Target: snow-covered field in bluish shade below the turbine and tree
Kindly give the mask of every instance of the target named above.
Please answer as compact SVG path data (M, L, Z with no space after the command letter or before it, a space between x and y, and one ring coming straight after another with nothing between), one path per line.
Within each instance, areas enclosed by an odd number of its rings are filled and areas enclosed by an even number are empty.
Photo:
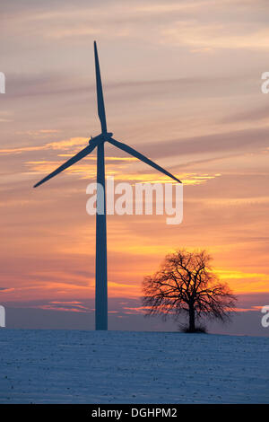
M269 403L269 338L0 330L1 403Z

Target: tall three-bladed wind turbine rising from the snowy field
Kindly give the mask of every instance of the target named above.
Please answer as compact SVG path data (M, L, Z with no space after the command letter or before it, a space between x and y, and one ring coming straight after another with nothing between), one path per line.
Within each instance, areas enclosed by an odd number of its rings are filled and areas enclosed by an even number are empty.
M108 330L108 275L107 275L107 213L106 213L106 187L105 187L105 157L104 157L104 144L117 146L117 148L125 151L127 154L133 155L143 163L151 165L154 169L161 171L173 180L178 181L169 171L163 169L160 165L153 163L152 160L145 157L143 154L138 153L129 145L118 142L112 136L111 132L107 131L107 120L105 113L105 105L103 98L103 90L100 77L100 65L97 52L96 41L94 41L94 57L95 57L95 73L96 73L96 91L97 91L97 105L98 115L100 118L101 133L98 136L92 137L89 141L89 145L86 146L74 157L67 160L64 164L60 165L55 171L52 171L44 179L40 180L34 185L37 188L45 181L53 178L56 174L64 171L74 163L77 163L83 157L94 150L97 147L97 183L100 183L103 189L99 191L97 189L97 212L96 212L96 257L95 257L95 330ZM104 207L103 213L98 213L98 204L100 201L100 195L104 195Z

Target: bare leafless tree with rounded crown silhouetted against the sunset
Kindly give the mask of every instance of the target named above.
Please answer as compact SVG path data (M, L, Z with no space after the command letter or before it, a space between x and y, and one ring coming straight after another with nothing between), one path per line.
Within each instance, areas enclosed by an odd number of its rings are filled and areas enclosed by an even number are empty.
M195 321L202 316L230 320L236 297L220 282L210 267L206 251L179 250L166 256L159 271L143 280L143 306L146 315L164 318L188 314L188 332L195 332Z

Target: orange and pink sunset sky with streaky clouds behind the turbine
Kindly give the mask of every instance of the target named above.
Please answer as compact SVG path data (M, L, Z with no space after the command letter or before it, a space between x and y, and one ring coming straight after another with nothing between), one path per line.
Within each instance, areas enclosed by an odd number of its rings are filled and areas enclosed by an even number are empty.
M0 303L32 310L21 326L50 311L93 323L96 153L32 186L100 133L97 40L108 130L184 182L182 224L108 216L110 327L158 329L142 317L141 283L185 247L210 252L239 318L269 335L268 12L266 0L1 3ZM112 145L106 155L118 181L169 181Z

